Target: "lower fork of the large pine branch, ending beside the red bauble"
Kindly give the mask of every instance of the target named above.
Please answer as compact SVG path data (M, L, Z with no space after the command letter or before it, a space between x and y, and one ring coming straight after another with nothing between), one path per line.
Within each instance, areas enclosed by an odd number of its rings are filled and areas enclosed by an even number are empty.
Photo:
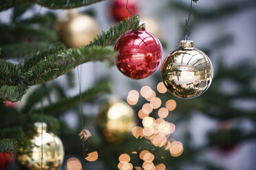
M67 49L34 65L24 73L24 82L30 85L41 84L71 71L79 64L89 61L106 61L114 64L115 58L115 51L103 47Z

